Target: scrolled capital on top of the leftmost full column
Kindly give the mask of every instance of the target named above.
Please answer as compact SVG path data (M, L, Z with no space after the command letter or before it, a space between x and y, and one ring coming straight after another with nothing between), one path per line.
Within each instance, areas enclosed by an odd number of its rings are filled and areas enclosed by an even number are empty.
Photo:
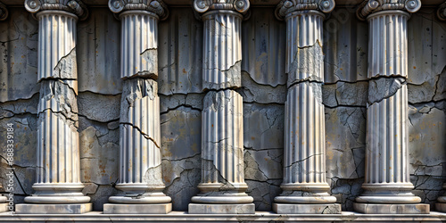
M88 17L87 5L80 0L26 0L25 8L31 13L45 10L71 12L81 21Z

